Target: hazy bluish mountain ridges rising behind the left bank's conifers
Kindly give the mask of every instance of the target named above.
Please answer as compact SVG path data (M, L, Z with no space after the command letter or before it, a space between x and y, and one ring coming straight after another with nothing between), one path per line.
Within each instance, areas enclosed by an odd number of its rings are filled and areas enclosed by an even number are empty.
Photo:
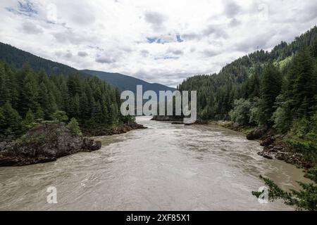
M32 53L17 49L14 46L1 42L0 60L3 60L14 68L22 68L23 65L28 64L34 70L45 70L48 75L63 74L68 76L78 72L82 76L97 76L108 84L116 86L121 91L130 90L136 92L137 84L142 84L144 91L153 90L156 93L159 93L159 91L175 90L162 84L151 84L149 82L144 82L142 79L121 75L118 73L100 72L94 70L76 70L75 68L71 68L68 65L35 56Z

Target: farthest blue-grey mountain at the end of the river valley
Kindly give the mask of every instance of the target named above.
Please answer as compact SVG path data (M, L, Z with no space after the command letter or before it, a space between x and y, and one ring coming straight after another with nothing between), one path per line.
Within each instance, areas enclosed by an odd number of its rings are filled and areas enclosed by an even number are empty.
M155 91L156 94L159 94L159 91L175 91L174 88L165 86L162 84L156 83L149 83L144 82L142 79L137 79L135 77L130 77L127 75L122 75L120 73L111 73L111 72L101 72L101 71L94 71L94 70L81 70L88 75L93 75L103 79L108 84L116 86L121 91L129 90L133 91L134 93L137 92L137 85L142 85L143 91Z

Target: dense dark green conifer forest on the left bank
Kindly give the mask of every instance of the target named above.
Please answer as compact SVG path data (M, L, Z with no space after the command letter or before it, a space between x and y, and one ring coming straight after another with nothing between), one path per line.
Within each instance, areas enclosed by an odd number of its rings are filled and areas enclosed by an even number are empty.
M49 76L29 65L15 69L0 62L0 140L15 139L40 123L72 118L82 129L112 127L132 119L120 114L118 89L97 77Z

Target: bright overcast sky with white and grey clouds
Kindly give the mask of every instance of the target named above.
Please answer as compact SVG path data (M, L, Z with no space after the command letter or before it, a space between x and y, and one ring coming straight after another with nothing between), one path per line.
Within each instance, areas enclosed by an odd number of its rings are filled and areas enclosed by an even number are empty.
M317 23L316 0L1 0L0 41L168 86Z

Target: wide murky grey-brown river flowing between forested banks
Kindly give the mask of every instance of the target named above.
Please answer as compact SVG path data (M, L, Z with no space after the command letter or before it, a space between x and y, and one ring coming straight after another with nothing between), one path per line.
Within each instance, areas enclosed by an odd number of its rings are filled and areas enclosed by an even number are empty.
M0 210L294 210L251 195L259 175L283 188L301 169L256 153L257 141L215 125L183 126L137 117L148 129L97 137L101 150L56 162L0 167ZM57 203L46 202L56 187Z

